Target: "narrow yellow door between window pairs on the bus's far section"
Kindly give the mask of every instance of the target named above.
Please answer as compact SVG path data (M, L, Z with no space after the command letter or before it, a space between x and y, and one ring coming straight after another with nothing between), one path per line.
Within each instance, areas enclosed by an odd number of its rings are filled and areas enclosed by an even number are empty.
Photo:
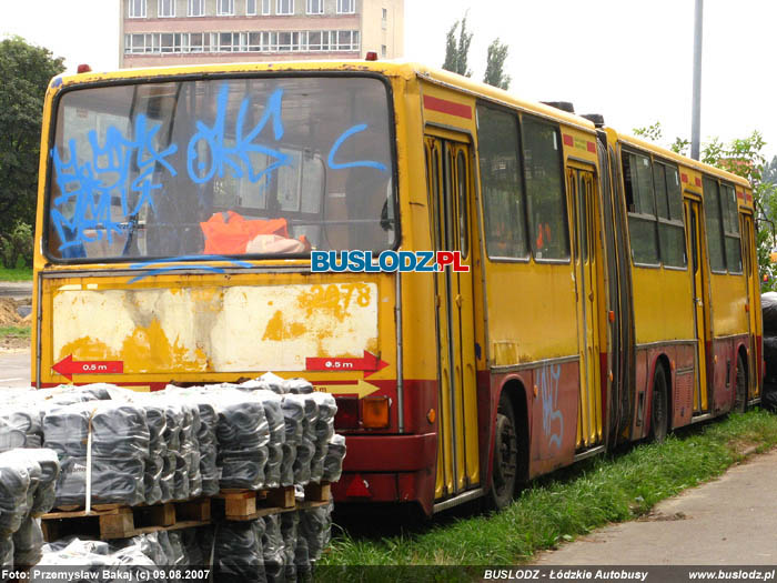
M694 391L694 414L706 413L709 409L707 402L707 306L706 298L706 270L702 254L704 249L702 239L702 204L698 201L686 199L685 224L688 238L692 301L694 302L694 330L696 333L696 390Z

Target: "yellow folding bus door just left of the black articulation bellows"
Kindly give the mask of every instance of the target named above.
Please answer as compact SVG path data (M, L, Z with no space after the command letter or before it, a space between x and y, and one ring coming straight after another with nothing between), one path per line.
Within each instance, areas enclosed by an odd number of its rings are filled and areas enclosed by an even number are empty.
M577 450L598 445L602 431L602 384L599 371L599 298L597 258L599 221L597 198L591 170L567 170L569 208L574 227L573 261L577 294L577 339L581 363L581 391L577 402ZM605 340L606 343L606 340Z

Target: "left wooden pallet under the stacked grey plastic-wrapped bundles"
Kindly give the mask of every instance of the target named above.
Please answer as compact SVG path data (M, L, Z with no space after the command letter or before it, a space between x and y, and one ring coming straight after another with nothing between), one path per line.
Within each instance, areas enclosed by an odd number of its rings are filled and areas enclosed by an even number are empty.
M83 510L50 512L41 516L48 542L71 534L101 540L128 539L139 534L173 531L211 523L211 499L167 502L151 506L105 504L87 513Z

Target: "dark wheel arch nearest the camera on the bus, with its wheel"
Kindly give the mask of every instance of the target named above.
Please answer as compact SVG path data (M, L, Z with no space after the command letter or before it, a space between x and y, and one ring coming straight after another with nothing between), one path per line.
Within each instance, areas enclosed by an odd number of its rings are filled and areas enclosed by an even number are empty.
M507 381L497 403L488 486L488 505L495 510L509 504L517 485L528 480L528 415L523 384Z

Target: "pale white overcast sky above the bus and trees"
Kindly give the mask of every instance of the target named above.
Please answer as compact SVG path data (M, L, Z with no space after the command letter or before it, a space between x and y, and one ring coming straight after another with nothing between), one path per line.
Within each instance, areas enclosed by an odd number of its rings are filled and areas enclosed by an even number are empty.
M771 66L777 2L706 0L702 139L759 130L777 154ZM405 0L405 57L441 66L445 33L468 10L473 77L488 43L509 46L511 91L572 101L620 131L660 120L665 142L689 138L694 0ZM0 37L20 34L69 68L119 64L119 0L0 0Z

